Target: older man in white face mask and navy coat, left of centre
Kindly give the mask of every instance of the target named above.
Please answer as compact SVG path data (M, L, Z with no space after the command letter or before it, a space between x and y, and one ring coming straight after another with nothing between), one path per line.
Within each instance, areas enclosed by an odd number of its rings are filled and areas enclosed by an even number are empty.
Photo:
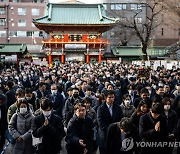
M54 112L62 118L62 110L64 107L64 97L57 90L57 85L51 85L51 94L48 97L53 103Z

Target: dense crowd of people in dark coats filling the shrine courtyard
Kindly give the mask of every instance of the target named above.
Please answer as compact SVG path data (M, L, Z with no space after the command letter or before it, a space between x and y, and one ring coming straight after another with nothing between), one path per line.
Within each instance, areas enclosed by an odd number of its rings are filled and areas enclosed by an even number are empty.
M63 139L68 154L172 154L168 144L136 142L180 142L180 68L67 62L2 69L0 152L8 133L14 154L58 154Z

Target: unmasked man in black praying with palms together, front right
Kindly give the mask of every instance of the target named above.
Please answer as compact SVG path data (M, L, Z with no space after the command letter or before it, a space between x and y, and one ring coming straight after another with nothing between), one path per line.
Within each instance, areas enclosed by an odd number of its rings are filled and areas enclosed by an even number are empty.
M144 142L165 142L168 137L166 118L161 115L160 103L153 103L150 112L141 116L139 121L139 135ZM165 153L162 147L142 147L141 154Z

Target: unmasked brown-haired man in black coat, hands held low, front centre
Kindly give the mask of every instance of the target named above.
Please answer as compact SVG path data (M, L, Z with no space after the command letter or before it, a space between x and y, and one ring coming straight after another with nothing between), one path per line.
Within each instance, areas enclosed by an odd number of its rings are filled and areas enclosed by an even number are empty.
M86 106L77 103L74 106L74 116L68 123L66 149L68 154L93 153L93 121L86 116Z

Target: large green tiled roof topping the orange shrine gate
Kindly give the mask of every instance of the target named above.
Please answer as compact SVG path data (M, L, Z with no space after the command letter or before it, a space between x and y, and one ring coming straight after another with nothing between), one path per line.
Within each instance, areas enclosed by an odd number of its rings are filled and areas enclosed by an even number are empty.
M39 24L61 25L109 25L115 24L115 19L106 17L102 4L51 4L45 10L44 17L33 19Z

